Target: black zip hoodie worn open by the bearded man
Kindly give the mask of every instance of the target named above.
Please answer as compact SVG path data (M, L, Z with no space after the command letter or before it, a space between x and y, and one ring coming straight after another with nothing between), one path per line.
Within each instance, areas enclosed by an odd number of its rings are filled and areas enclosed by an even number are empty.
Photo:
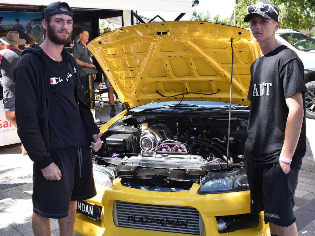
M84 103L84 91L78 75L78 66L74 57L62 50L63 59L74 75L76 99L80 115L85 126L88 142L94 142L92 135L100 132L94 124L89 107ZM15 116L18 135L32 161L43 169L53 161L58 161L59 155L55 148L54 134L49 114L49 86L46 78L46 61L43 49L33 44L26 48L21 59L13 70L15 81ZM71 124L69 124L71 125Z

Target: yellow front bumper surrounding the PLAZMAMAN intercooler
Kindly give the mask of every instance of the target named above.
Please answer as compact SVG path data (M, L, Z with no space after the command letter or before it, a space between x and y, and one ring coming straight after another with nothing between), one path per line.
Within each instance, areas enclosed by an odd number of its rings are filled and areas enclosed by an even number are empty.
M267 236L268 225L263 221L263 213L259 214L259 224L255 228L237 230L230 233L219 233L215 216L228 216L249 213L249 191L222 194L199 195L197 183L188 191L156 192L128 188L120 183L120 178L113 181L112 188L96 185L97 195L87 202L102 207L101 221L94 221L88 216L77 213L74 231L81 235L106 236L172 236L191 235L154 230L117 227L113 219L115 200L148 205L189 206L197 209L202 217L204 230L201 235L242 235Z

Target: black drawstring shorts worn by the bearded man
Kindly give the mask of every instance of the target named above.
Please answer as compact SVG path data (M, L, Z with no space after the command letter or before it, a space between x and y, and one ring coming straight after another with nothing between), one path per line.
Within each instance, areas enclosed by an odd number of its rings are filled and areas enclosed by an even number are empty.
M79 155L80 149L82 155ZM33 211L55 219L68 216L70 201L96 195L89 143L79 149L58 150L58 153L61 157L56 163L61 171L59 181L45 179L39 165L33 165Z

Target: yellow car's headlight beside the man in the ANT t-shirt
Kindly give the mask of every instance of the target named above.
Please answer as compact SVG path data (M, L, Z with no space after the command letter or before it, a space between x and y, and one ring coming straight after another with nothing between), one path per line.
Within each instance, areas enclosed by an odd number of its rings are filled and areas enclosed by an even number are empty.
M215 194L248 190L248 180L245 170L237 170L204 180L198 194Z

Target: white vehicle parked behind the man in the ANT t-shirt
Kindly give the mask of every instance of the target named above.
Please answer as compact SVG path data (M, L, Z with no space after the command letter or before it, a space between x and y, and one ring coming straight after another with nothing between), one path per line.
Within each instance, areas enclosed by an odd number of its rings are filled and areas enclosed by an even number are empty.
M306 117L315 119L315 39L291 29L279 29L276 39L280 44L294 50L304 64Z

